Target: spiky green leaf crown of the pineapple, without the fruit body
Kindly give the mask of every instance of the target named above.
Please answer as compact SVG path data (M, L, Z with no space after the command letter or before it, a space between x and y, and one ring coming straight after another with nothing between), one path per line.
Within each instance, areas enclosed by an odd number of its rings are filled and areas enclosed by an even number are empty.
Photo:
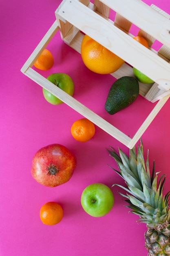
M152 175L150 175L149 159L147 154L146 163L144 160L144 147L142 140L138 145L137 153L135 146L130 149L129 157L119 148L119 155L110 147L108 150L110 156L115 159L119 167L119 171L111 168L118 173L126 183L126 187L117 185L128 193L122 194L126 198L132 213L140 216L139 222L152 224L170 221L169 196L170 191L163 196L163 185L166 177L162 175L159 182L158 173L155 173L155 161L153 162ZM149 150L148 150L149 153Z

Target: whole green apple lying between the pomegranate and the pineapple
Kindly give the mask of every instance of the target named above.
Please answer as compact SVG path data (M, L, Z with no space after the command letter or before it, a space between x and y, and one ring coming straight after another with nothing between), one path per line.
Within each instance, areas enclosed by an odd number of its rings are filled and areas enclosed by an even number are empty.
M82 192L81 204L89 215L102 217L111 211L114 196L111 189L102 183L93 183Z

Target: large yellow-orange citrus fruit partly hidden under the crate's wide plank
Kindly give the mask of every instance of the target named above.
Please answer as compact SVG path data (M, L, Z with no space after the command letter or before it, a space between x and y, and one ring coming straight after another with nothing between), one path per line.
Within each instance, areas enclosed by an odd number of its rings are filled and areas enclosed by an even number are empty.
M124 64L124 60L87 35L82 40L81 55L86 67L98 74L113 73Z

